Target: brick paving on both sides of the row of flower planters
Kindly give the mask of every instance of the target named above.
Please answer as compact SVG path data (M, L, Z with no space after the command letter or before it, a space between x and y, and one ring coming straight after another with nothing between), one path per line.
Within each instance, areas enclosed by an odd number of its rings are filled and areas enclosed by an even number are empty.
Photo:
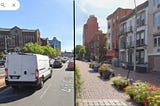
M83 83L81 99L78 99L78 106L138 106L131 101L124 91L118 91L111 80L103 80L99 73L89 68L89 63L76 61L79 66ZM114 68L116 75L126 77L128 70ZM160 86L160 72L138 73L131 71L130 79L147 81Z

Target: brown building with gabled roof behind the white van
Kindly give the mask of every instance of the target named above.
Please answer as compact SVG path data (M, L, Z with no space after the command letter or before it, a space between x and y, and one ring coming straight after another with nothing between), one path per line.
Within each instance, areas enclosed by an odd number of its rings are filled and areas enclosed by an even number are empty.
M0 28L0 51L14 51L22 48L26 43L41 44L40 31L38 29Z

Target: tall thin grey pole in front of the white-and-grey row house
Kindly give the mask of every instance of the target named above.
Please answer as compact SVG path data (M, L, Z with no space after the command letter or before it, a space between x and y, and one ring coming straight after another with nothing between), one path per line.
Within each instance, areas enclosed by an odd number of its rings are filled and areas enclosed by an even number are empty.
M135 6L135 27L134 27L134 39L135 39L135 44L134 44L134 72L133 72L133 79L135 81L135 71L136 71L136 40L137 40L137 26L136 26L136 20L137 20L137 6L136 6L136 0L134 0L134 6Z

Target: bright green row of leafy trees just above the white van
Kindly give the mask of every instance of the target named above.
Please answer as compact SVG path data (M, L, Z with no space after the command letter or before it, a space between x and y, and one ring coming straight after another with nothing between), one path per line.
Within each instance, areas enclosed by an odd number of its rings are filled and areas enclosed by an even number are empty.
M59 54L57 49L54 49L51 46L41 46L37 43L27 43L23 48L23 52L48 55L49 57L55 57Z

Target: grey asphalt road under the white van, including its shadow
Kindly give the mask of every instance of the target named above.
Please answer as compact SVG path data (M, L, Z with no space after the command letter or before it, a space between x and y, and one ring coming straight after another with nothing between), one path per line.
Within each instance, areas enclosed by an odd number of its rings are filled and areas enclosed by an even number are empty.
M40 90L7 87L0 92L0 106L74 106L74 72L65 67L53 69L52 78Z

